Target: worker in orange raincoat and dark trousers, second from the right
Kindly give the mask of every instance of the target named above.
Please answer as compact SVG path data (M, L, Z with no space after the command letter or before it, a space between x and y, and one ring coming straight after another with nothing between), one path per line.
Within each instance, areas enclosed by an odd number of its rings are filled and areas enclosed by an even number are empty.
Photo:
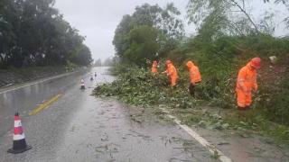
M191 84L189 86L189 91L191 96L195 96L195 85L199 84L201 81L199 67L195 66L192 61L188 61L186 66L190 71Z

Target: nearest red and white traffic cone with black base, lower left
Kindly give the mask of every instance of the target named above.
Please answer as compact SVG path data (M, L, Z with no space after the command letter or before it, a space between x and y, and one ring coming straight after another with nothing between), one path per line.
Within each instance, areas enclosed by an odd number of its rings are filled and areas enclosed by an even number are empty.
M28 146L25 141L25 135L18 112L14 115L14 135L13 135L13 148L7 151L12 154L19 154L33 147Z

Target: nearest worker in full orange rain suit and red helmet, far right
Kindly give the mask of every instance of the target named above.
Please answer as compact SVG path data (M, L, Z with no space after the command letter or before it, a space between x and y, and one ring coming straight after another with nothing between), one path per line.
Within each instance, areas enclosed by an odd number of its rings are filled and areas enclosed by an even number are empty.
M261 58L252 58L238 72L236 85L238 110L247 110L252 103L252 90L256 92L256 70L261 67Z

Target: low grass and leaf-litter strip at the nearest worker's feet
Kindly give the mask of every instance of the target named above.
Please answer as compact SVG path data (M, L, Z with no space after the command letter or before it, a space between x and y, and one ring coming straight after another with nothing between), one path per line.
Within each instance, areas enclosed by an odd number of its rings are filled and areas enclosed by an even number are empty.
M257 109L238 112L237 109L202 106L197 109L172 109L172 113L191 126L208 130L233 130L244 138L257 134L272 138L269 142L289 146L289 127L268 121L263 112Z

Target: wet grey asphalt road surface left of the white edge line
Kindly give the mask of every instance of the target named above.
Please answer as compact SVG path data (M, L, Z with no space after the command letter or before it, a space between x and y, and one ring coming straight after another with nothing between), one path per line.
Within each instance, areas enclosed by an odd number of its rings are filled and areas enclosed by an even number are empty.
M179 127L146 114L132 119L132 108L114 99L91 96L93 87L112 81L107 67L75 73L48 82L0 92L0 161L215 161ZM87 89L79 90L85 79ZM29 116L38 104L56 94L61 98ZM12 147L13 115L21 114L26 141L33 149L19 155Z

